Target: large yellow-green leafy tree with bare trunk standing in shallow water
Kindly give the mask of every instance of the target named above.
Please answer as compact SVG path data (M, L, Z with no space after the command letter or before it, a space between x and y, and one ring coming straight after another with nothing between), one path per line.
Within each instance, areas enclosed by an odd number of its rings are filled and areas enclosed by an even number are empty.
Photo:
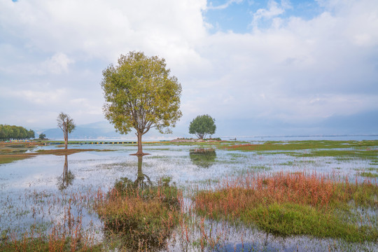
M138 137L136 155L144 155L141 139L151 128L170 133L181 117L181 84L170 75L165 59L144 52L120 55L118 65L102 71L104 114L121 134L134 128Z

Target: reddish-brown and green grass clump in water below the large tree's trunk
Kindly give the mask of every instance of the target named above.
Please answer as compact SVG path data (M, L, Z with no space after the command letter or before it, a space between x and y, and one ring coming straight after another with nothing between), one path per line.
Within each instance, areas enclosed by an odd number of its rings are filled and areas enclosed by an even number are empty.
M176 186L169 185L169 178L160 180L158 186L143 180L121 178L97 199L95 209L104 221L111 249L121 245L132 251L159 250L179 223L182 196Z

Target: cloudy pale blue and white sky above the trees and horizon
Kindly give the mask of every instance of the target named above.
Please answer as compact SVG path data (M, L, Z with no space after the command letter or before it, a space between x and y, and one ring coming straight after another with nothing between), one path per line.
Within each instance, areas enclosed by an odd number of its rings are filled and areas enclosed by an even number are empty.
M179 129L378 134L377 0L0 0L0 124L103 121L102 70L167 60Z

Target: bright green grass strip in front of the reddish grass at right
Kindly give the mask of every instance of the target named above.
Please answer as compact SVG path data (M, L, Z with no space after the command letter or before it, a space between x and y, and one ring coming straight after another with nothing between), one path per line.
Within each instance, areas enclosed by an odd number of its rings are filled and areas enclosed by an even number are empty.
M243 212L240 219L274 235L312 235L346 241L377 239L377 231L370 234L369 228L344 223L332 212L291 202L260 204Z

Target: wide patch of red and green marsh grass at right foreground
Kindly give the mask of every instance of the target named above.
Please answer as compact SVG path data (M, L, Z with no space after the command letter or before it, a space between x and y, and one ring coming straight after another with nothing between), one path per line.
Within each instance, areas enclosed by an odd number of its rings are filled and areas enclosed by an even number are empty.
M376 208L377 197L377 184L280 172L226 180L216 190L198 192L193 200L200 216L257 226L274 235L376 242L377 216L362 216L356 209Z

